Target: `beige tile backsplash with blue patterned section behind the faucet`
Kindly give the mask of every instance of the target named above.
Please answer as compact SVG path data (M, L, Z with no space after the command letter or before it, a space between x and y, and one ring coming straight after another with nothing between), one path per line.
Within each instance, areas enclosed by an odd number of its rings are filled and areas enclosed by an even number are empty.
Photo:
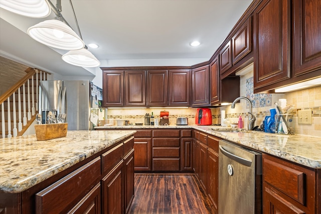
M240 78L240 95L252 101L253 113L256 116L255 125L260 126L264 117L270 115L270 108L275 108L274 102L278 102L279 99L287 99L287 105L294 105L294 133L321 137L321 86L284 94L253 94L253 74L249 72ZM221 122L221 110L225 110L226 118L231 122L237 123L238 116L241 115L244 127L247 127L248 108L245 100L237 103L234 109L231 108L231 105L211 108L213 124ZM297 111L300 109L312 109L312 124L297 123ZM145 113L151 114L153 112L155 118L159 118L162 110L165 109L108 109L106 122L116 124L115 119L126 119L132 123L143 123ZM171 125L176 124L177 117L187 117L189 125L195 124L196 108L167 108L166 110L170 112Z

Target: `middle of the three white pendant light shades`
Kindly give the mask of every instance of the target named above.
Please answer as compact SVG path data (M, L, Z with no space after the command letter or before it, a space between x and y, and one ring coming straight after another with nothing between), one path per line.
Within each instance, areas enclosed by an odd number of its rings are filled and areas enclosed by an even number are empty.
M27 31L34 40L58 49L79 50L85 43L65 23L59 20L46 20L30 27Z

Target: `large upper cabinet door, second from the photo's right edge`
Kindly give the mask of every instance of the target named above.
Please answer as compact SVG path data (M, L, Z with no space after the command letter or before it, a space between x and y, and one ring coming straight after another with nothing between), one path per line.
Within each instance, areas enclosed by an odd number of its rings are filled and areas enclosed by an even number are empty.
M254 90L290 78L290 8L264 0L253 13Z

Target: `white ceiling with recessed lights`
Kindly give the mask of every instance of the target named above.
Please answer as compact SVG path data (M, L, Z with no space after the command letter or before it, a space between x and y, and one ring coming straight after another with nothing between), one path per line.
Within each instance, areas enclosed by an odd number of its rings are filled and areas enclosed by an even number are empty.
M5 0L0 0L5 1ZM55 0L51 2L56 5ZM69 0L62 15L78 34ZM100 67L139 62L185 65L209 60L252 0L72 0L81 36ZM0 9L0 55L63 76L94 76L96 70L65 63L61 55L34 41L27 29L41 21ZM201 42L191 47L193 40ZM168 62L168 64L166 64ZM145 63L145 64L144 64ZM137 63L133 63L137 65Z

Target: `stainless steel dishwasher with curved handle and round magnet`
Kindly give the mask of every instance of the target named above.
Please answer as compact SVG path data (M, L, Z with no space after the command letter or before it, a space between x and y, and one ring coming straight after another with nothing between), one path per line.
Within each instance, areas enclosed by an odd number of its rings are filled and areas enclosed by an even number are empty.
M219 141L219 214L262 213L262 155Z

